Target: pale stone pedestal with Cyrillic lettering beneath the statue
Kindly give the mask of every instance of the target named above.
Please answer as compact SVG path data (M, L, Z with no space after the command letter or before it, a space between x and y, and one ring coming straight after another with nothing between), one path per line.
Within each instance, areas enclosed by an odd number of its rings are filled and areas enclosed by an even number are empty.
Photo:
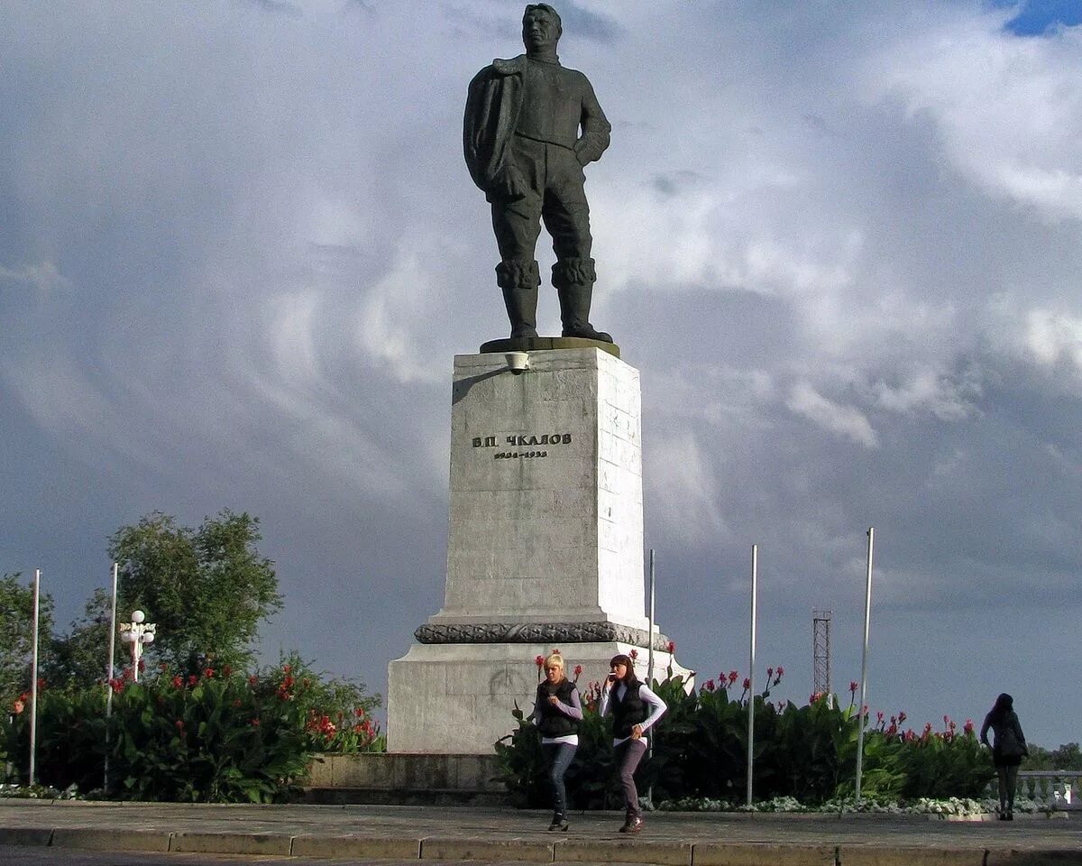
M645 678L638 371L593 346L527 363L454 358L445 601L388 667L393 752L491 751L554 647L580 688L632 648ZM652 640L663 675L668 639Z

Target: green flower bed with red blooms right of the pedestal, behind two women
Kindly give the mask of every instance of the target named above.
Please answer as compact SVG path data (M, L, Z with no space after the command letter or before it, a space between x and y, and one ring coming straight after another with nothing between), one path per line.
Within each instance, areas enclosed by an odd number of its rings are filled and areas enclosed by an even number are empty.
M754 707L754 797L757 801L795 798L805 805L852 796L856 776L860 714L850 701L813 695L808 704L771 704L770 690L781 669L770 671L766 688L749 696L730 694L736 672L698 691L685 691L681 678L654 682L668 711L650 731L652 757L638 773L639 790L654 789L655 801L742 803L748 767L748 710ZM854 687L855 691L855 687ZM583 696L579 752L567 775L568 796L580 809L617 808L611 733L597 716L598 688ZM497 744L500 777L512 801L522 806L549 805L540 736L515 707L517 729ZM905 720L905 714L899 713ZM994 775L987 750L967 723L956 734L954 723L922 736L901 732L892 719L866 730L861 796L872 799L979 798Z

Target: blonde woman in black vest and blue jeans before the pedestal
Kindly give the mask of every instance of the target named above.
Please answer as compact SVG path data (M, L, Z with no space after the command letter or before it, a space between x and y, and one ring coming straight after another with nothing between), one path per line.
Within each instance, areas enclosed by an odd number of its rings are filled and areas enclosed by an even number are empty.
M533 714L530 717L541 732L541 751L549 765L553 815L550 830L566 831L567 789L564 775L579 748L579 722L582 703L575 683L564 675L564 657L554 652L544 660L544 680L538 683Z

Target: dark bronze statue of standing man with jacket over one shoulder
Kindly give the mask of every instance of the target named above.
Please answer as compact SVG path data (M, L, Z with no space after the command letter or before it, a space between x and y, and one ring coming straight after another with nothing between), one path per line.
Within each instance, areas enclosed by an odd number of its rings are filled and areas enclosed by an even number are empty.
M560 65L562 32L551 5L526 6L526 53L493 61L470 82L463 146L470 174L492 206L496 281L511 337L538 336L541 276L533 257L543 221L556 253L552 285L564 337L610 343L590 324L596 274L582 167L605 153L611 127L586 77Z

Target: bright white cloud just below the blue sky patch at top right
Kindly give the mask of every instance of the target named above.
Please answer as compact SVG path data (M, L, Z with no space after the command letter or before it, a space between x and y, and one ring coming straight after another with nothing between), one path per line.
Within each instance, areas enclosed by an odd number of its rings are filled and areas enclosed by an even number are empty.
M869 57L868 93L929 120L948 165L988 195L1082 219L1082 27L1019 39L1002 28L1010 14L945 12Z

